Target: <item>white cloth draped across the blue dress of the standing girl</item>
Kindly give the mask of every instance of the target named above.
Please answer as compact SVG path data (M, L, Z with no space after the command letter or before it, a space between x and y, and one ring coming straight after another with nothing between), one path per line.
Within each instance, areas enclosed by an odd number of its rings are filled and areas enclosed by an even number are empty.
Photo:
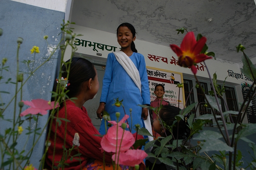
M122 67L124 68L126 73L131 77L131 79L134 81L136 86L140 89L140 94L141 94L140 73L139 73L137 67L134 65L134 63L128 57L128 55L126 55L126 53L124 53L123 51L115 51L113 53L116 56L116 60L118 61L118 63L120 63L120 65L122 65ZM147 119L144 120L144 124L145 124L145 128L152 135L152 127L151 127L151 123L150 123L149 113L148 113ZM148 140L152 141L152 140L154 140L154 138L151 136L148 136Z

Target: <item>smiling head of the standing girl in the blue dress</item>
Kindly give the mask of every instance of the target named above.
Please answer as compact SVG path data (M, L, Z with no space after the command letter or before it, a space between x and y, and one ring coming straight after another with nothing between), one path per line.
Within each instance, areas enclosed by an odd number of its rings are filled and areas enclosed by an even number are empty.
M118 28L116 29L116 36L117 41L121 45L121 49L123 47L130 47L133 52L138 52L135 48L134 40L136 39L136 30L132 24L129 24L127 22L120 24ZM127 40L127 41L121 41L121 40Z

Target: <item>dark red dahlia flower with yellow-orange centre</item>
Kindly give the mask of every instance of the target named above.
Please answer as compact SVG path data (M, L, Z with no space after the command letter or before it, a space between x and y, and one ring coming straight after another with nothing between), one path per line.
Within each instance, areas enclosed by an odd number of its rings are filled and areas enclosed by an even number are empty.
M192 72L196 74L196 63L200 63L206 59L212 58L208 55L200 54L205 43L205 37L200 38L200 40L196 42L194 32L188 32L182 40L180 47L175 44L170 44L170 47L172 48L172 51L174 51L178 55L179 65L181 67L191 67Z

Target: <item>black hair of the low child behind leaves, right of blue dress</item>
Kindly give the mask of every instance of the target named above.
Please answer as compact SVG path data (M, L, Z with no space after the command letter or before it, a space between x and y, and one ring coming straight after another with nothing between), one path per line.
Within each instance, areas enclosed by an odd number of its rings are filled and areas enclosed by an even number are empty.
M168 126L172 126L173 122L176 120L175 116L180 113L180 108L171 106L171 105L164 105L162 109L159 111L159 116L160 118L166 123ZM188 136L190 135L190 129L186 125L187 117L185 117L185 121L180 120L179 122L179 134L178 134L178 139L187 139ZM175 126L172 127L172 133L174 138L177 137L177 125L178 123L176 122L174 124ZM171 135L171 132L169 130L166 130L167 136Z

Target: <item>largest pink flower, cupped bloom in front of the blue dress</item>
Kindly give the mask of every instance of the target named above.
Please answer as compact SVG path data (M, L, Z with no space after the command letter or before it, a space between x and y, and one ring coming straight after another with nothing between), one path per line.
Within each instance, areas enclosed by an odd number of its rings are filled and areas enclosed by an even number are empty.
M118 135L116 138L116 131L117 131L117 126L114 125L108 129L108 132L106 135L103 136L100 145L102 149L104 149L106 152L125 152L128 150L135 142L135 139L130 131L124 130L121 127L118 127ZM124 136L123 135L124 132ZM117 146L116 146L116 140ZM122 143L120 145L120 142L122 140Z

